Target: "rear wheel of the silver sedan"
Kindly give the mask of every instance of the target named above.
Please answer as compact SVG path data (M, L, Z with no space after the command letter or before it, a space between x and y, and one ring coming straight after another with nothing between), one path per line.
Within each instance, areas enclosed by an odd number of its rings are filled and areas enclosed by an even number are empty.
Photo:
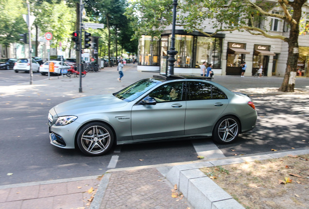
M216 123L212 139L219 144L232 143L240 132L240 123L233 116L225 116Z

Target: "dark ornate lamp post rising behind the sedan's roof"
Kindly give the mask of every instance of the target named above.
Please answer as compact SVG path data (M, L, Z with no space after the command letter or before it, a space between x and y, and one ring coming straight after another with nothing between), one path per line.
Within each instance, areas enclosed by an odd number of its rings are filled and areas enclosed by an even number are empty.
M177 0L173 0L173 23L172 23L172 38L171 38L171 48L168 51L168 61L169 68L166 75L174 75L174 62L176 61L175 55L178 51L175 51L175 25L176 25L176 6L178 5Z

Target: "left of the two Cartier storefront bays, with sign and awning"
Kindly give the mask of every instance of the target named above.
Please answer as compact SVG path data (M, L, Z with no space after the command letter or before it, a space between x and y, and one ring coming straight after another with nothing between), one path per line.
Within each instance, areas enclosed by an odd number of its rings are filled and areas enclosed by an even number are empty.
M240 65L245 60L245 55L250 54L245 50L246 44L228 42L226 58L226 75L240 75Z

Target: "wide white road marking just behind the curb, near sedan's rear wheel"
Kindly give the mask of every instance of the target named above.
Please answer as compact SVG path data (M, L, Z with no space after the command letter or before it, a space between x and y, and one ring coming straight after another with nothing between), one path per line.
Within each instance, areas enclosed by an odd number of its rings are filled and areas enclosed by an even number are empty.
M203 140L192 140L193 147L198 156L205 159L224 158L223 152L212 142Z

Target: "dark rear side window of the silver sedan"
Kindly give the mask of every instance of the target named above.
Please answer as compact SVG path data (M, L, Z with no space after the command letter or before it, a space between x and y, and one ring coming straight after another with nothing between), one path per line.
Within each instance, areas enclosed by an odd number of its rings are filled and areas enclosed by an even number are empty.
M227 99L224 92L217 87L204 82L189 83L188 100Z

